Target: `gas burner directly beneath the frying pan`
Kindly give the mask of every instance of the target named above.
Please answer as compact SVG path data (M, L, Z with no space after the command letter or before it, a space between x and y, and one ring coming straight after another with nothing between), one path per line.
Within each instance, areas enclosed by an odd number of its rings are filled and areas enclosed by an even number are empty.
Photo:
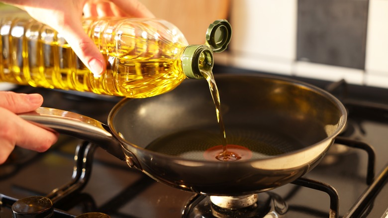
M240 197L196 195L186 209L187 218L282 218L288 206L277 194L265 192Z

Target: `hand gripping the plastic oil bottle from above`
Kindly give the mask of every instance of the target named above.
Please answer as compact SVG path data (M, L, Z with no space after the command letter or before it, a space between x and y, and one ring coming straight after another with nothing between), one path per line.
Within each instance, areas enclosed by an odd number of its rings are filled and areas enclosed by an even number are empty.
M138 0L0 0L25 10L61 33L95 75L105 71L102 54L85 33L81 18L90 16L153 17Z

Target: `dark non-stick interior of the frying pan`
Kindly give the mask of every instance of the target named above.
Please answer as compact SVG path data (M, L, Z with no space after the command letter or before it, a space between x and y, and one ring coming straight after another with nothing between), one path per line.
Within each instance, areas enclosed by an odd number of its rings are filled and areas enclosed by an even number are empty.
M344 111L323 91L280 78L216 76L227 143L254 151L250 159L311 146L338 130ZM221 145L208 84L187 80L170 93L128 100L112 128L128 144L174 157L206 160Z

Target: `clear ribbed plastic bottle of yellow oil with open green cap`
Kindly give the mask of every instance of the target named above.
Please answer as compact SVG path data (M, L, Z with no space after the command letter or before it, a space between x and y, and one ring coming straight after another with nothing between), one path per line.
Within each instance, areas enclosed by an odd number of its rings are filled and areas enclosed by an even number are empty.
M189 45L161 19L85 18L83 26L105 57L95 77L63 37L32 18L0 18L0 81L33 87L146 98L168 92L184 79L211 72L212 52L226 49L231 26L216 20L204 45Z

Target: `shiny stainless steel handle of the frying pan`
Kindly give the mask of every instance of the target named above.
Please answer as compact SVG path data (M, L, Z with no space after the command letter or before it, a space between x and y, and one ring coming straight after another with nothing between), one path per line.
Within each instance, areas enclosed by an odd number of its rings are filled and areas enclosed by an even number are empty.
M19 116L43 128L74 136L97 144L113 156L125 161L120 143L113 137L107 125L78 113L39 108Z

